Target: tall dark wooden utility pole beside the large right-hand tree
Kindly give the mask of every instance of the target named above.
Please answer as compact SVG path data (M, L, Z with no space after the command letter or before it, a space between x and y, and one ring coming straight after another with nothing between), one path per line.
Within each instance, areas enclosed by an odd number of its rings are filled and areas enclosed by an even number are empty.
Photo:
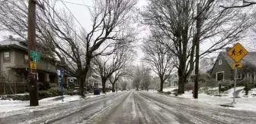
M194 98L198 98L198 78L199 78L199 51L200 51L200 31L202 25L202 7L197 4L197 34L196 34L196 65L195 65L195 81L194 81Z

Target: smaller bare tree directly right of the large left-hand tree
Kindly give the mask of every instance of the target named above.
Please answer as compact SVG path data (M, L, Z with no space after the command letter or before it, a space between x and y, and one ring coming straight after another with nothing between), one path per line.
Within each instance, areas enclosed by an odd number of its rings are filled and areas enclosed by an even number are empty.
M109 79L113 73L117 73L115 79L119 79L124 73L121 71L129 66L130 62L133 60L132 57L133 49L128 45L120 47L117 51L114 51L114 54L110 54L109 56L94 57L94 70L101 76L103 93L105 93L107 79Z

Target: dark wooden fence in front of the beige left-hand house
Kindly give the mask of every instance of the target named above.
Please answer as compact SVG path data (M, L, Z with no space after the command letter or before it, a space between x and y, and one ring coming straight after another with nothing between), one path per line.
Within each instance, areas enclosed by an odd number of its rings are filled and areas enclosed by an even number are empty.
M0 83L0 95L23 94L26 91L26 83Z

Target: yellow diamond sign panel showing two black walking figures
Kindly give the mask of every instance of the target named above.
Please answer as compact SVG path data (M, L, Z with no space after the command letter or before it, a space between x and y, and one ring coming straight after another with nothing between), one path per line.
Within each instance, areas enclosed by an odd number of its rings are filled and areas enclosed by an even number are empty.
M238 62L248 54L248 51L238 42L228 51L228 54L235 62Z

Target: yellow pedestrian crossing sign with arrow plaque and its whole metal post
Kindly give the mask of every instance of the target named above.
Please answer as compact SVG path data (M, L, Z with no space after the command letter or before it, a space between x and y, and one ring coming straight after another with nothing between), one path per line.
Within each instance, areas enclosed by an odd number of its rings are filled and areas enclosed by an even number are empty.
M235 76L234 76L234 93L233 93L233 101L232 104L235 104L235 86L236 86L236 80L237 80L237 70L238 68L242 68L242 63L240 60L244 58L248 51L238 42L236 43L233 48L231 48L228 51L229 57L231 57L233 60L235 60L236 63L232 64L232 68L235 68Z

